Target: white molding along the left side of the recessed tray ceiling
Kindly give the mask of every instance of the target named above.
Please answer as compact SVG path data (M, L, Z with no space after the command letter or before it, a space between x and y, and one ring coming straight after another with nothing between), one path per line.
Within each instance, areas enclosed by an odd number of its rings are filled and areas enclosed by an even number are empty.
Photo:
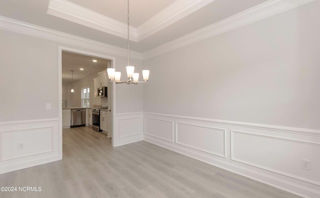
M50 0L47 14L127 38L127 24L81 7L67 0ZM137 42L137 30L130 26L130 40Z

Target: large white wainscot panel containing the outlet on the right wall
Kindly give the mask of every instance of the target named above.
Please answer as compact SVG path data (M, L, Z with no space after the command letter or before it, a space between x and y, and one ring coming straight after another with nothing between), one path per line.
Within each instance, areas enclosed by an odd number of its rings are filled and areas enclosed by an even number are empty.
M319 144L231 131L231 160L320 186L319 154ZM310 170L302 159L312 159Z

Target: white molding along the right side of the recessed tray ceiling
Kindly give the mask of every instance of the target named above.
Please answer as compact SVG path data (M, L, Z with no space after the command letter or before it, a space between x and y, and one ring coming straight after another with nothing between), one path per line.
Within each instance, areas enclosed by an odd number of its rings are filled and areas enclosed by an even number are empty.
M214 0L176 0L137 27L138 41L173 24Z

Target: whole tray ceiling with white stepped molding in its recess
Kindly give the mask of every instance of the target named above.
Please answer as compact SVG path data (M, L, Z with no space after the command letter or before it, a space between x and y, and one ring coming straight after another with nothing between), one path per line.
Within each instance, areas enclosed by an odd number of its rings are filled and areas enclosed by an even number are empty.
M130 0L130 49L145 52L265 1ZM2 0L0 15L126 48L126 2Z

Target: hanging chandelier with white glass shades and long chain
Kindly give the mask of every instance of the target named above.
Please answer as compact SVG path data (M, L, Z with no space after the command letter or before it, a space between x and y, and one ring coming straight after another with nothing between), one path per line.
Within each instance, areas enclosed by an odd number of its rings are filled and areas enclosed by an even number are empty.
M134 73L134 67L130 66L129 57L130 57L130 43L129 43L129 0L128 0L128 18L127 18L127 47L128 47L128 66L126 66L126 75L128 79L126 81L120 81L121 72L115 71L114 68L107 68L109 82L115 83L126 83L126 84L137 84L138 82L148 82L149 79L149 70L142 70L143 81L139 81L139 73Z

